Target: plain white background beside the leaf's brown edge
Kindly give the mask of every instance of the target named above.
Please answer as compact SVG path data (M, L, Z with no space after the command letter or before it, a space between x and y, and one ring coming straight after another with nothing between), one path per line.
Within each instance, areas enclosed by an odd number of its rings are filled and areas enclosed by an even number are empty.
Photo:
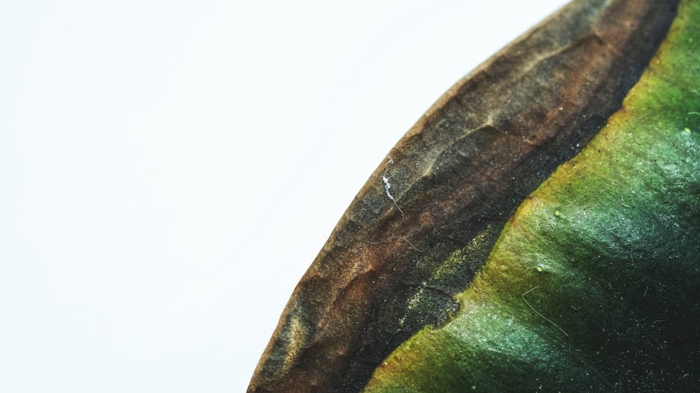
M0 391L243 392L386 153L565 1L3 1Z

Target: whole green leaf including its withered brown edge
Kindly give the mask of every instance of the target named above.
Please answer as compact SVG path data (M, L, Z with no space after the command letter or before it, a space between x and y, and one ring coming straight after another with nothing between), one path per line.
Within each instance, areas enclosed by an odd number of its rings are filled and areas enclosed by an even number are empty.
M649 376L624 385L644 367L671 378L664 367L685 363L664 358L673 355L668 348L658 359L649 355L654 362L635 365L629 355L617 368L619 354L596 363L591 353L605 343L633 351L647 337L635 323L654 313L677 316L678 307L664 314L663 305L694 304L680 300L698 283L688 269L697 262L692 253L700 255L692 131L700 119L678 116L700 110L697 85L686 80L697 75L698 52L674 43L700 29L692 25L697 3L682 2L678 17L677 5L575 1L441 97L351 203L293 293L248 391L461 391L484 384L510 391L529 389L524 380L568 391L586 390L581 380L601 389L661 386ZM680 123L682 133L673 134ZM652 180L638 172L638 161ZM659 197L668 190L673 197ZM677 247L661 248L667 243ZM657 248L677 255L661 261ZM599 259L591 250L601 251ZM637 257L641 273L631 273L628 256ZM687 285L669 290L671 279L660 280L652 290L661 300L650 308L639 306L644 300L630 303L636 292L622 278L652 283L681 259L685 268L669 277L688 277ZM601 292L612 278L620 280L618 292ZM627 300L601 306L585 303L587 296ZM601 310L617 334L634 340L589 334L601 328ZM682 337L697 338L683 326ZM589 379L557 385L554 370L572 378L588 372Z

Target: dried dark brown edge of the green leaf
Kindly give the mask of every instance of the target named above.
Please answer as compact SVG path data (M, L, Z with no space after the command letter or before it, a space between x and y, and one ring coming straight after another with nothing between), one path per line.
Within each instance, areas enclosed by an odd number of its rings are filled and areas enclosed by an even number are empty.
M346 210L248 392L358 392L462 312L509 217L622 107L677 6L573 1L444 94Z

